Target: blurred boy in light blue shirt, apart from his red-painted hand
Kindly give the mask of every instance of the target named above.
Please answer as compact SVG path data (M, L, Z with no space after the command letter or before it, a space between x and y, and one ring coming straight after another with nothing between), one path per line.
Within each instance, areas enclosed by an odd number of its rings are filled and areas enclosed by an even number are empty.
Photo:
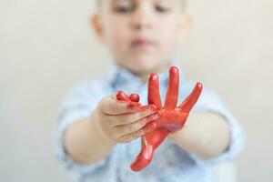
M60 108L58 157L76 171L78 181L211 181L210 167L238 155L244 135L219 96L206 86L187 123L169 135L152 162L134 172L147 124L157 119L147 106L136 110L116 100L116 91L140 95L147 105L147 78L158 73L164 102L169 66L187 35L186 0L100 0L92 17L96 35L115 60L109 73L75 86ZM181 103L195 85L180 75Z

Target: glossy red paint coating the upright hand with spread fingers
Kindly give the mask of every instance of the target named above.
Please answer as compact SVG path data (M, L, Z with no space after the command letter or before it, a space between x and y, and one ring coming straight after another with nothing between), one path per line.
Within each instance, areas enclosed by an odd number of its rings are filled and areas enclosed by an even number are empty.
M162 106L160 93L159 93L159 81L157 74L151 74L148 80L148 106L157 106L158 112L161 116L152 123L152 126L157 126L157 129L142 136L141 139L141 151L136 157L135 161L131 164L131 169L134 171L140 171L151 162L153 154L157 147L164 141L169 133L176 132L181 129L189 115L190 110L196 104L198 97L202 92L202 84L197 83L193 91L177 106L179 88L179 71L177 67L171 66L169 69L169 80L167 86L167 95L165 99L165 105ZM117 99L132 102L129 96L121 97Z

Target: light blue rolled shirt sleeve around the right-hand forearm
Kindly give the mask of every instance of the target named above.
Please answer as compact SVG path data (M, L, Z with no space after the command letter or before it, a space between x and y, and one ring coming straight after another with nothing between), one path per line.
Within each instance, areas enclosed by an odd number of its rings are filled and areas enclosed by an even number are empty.
M193 89L194 85L191 84L189 87ZM245 134L238 120L227 110L220 96L215 91L203 87L202 94L199 96L196 106L193 107L193 111L209 111L225 117L230 131L230 143L227 149L217 157L202 159L197 155L189 154L190 157L200 165L213 165L238 156L245 147Z

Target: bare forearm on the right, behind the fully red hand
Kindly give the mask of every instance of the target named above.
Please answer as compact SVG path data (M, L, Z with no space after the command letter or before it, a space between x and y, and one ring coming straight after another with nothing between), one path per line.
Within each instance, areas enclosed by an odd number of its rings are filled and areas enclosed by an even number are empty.
M217 157L230 142L227 121L209 112L192 112L186 125L169 138L178 146L199 157Z

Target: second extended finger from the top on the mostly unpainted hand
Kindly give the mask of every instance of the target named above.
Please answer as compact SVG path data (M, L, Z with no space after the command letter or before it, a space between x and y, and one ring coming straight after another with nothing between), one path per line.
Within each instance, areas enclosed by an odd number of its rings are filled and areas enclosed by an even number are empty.
M124 126L132 124L140 119L144 119L147 116L156 114L157 116L160 116L159 112L157 112L156 106L147 106L147 108L143 111L132 113L132 114L125 114L120 116L115 116L116 120L118 121L116 123L116 126Z

